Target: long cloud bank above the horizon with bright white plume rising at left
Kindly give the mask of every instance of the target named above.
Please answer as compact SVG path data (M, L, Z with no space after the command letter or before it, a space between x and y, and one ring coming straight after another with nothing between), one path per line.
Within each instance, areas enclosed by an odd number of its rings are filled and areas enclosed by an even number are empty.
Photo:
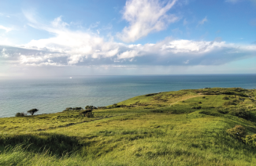
M165 38L157 43L127 45L98 34L69 30L69 23L56 18L50 25L32 23L49 31L52 38L26 45L0 45L0 61L25 66L197 66L221 65L255 55L256 45L238 45L221 40L192 41Z

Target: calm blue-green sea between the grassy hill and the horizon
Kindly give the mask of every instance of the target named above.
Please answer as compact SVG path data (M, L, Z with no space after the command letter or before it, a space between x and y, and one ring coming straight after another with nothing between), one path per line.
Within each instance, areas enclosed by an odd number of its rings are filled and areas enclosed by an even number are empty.
M66 107L108 106L134 96L195 88L256 88L256 74L63 76L41 79L0 78L0 117L33 108L37 114Z

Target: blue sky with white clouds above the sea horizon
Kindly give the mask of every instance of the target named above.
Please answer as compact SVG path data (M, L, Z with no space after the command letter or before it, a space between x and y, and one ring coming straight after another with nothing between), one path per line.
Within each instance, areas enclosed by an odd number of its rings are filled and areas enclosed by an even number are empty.
M0 77L255 74L256 0L0 1Z

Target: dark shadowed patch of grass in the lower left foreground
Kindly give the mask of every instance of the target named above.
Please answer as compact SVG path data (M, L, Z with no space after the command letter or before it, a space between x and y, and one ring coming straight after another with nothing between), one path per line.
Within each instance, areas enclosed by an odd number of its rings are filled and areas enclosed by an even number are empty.
M57 156L76 152L83 146L76 137L61 134L41 132L38 135L0 135L1 149L18 144L29 152L40 153L47 150L50 154Z

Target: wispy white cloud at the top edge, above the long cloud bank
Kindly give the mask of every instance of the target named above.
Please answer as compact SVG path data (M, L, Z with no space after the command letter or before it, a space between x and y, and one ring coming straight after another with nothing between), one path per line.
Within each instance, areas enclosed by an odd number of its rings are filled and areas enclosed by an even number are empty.
M123 18L129 23L117 37L124 42L135 42L147 36L152 31L162 31L169 23L178 20L174 14L167 12L173 7L176 0L165 5L159 0L128 0L124 6Z

